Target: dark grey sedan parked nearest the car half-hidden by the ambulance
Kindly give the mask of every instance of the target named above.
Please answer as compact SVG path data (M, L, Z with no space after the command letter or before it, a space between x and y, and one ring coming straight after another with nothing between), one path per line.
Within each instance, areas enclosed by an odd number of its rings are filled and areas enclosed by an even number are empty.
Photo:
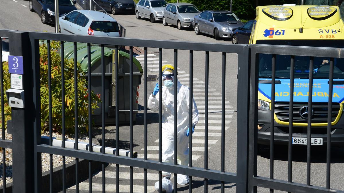
M234 13L227 10L203 11L195 16L193 28L195 33L215 36L216 40L230 38L232 32L242 27L243 23Z

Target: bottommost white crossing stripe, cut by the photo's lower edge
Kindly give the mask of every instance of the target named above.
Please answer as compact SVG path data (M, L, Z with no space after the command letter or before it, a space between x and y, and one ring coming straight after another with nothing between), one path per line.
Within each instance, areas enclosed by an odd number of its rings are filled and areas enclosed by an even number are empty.
M79 183L79 190L82 191L88 191L89 188L89 184L88 182L80 182ZM71 190L75 190L75 186L72 186L71 188L68 188ZM142 192L142 190L144 189L143 185L133 185L133 192ZM105 190L108 192L116 192L116 184L109 184L106 183L105 184ZM155 188L154 186L147 186L147 190L149 192L154 192ZM92 191L103 191L103 184L100 183L92 183ZM119 185L119 192L130 192L130 185Z

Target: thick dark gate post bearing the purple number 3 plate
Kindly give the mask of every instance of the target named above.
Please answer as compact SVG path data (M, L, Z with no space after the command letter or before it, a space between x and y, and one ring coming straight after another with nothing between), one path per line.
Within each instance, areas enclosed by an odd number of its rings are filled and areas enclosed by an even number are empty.
M13 192L34 192L33 70L29 32L10 32L10 55L23 57L24 108L12 108Z

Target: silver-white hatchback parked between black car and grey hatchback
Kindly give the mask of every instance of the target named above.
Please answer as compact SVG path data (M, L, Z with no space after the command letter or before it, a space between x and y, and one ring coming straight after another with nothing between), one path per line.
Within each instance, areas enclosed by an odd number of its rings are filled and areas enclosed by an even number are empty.
M161 21L166 5L165 0L140 0L135 6L136 19L148 18L152 23Z

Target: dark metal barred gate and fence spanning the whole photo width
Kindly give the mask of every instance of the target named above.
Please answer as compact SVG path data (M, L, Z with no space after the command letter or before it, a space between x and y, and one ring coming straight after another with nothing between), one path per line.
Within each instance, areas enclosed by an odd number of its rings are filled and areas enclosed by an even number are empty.
M257 101L258 101L258 55L259 54L272 54L272 88L275 88L275 79L276 79L276 55L301 55L301 56L321 56L321 57L331 57L330 61L330 96L332 94L332 86L333 86L333 58L344 58L343 49L337 48L312 48L312 47L290 47L290 46L268 46L268 45L228 45L228 44L208 44L208 43L190 43L190 42L172 42L172 41L155 41L155 40L143 40L143 39L132 39L132 38L104 38L104 37L96 37L96 36L71 36L66 34L53 34L53 33L38 33L38 32L7 32L7 31L0 31L0 36L8 36L10 37L10 44L16 45L15 47L10 47L11 55L23 56L23 62L25 64L24 67L24 86L23 89L25 91L25 109L12 109L12 120L15 124L12 125L13 127L13 141L15 142L14 146L11 145L11 141L8 141L4 138L4 121L2 120L2 139L0 140L0 146L3 148L3 160L4 157L4 148L13 148L13 191L14 192L41 192L41 176L42 176L42 165L41 165L41 154L46 153L50 154L50 159L52 159L52 155L60 155L63 156L63 162L65 161L65 157L74 157L76 160L76 170L75 170L75 185L76 191L78 192L78 159L85 159L89 160L89 192L92 192L92 168L91 164L93 161L100 161L103 163L102 165L102 176L103 176L103 192L107 191L105 189L105 167L106 163L115 163L116 164L116 190L119 191L119 166L125 165L130 167L130 192L133 192L133 167L142 168L144 171L144 184L145 188L142 190L143 192L148 192L147 190L147 170L155 170L159 172L159 187L161 189L161 180L162 180L162 173L161 171L167 171L174 173L174 185L176 187L176 174L185 174L189 175L189 192L192 192L193 177L204 178L204 192L208 192L208 179L218 180L221 181L221 191L226 192L225 190L225 182L231 182L236 184L236 191L237 192L256 192L257 187L264 187L273 190L281 190L281 191L288 191L288 192L343 192L339 190L332 190L330 186L330 166L331 166L331 124L327 125L327 184L326 187L318 187L312 186L310 184L310 150L311 146L308 143L307 149L307 184L295 183L292 182L292 170L291 170L291 161L292 161L292 144L291 144L291 137L292 132L289 134L289 170L288 170L288 181L283 181L280 179L274 179L274 170L273 170L273 163L274 163L274 135L270 135L270 178L266 177L259 177L257 175ZM102 118L103 124L102 128L102 149L101 152L93 152L92 148L88 148L88 150L81 150L78 147L78 111L77 105L75 105L75 147L72 148L65 148L65 104L62 103L62 147L52 146L53 139L52 139L52 115L51 115L51 101L49 102L49 145L42 144L41 141L41 82L40 82L40 55L39 55L39 41L46 40L48 46L48 73L50 75L51 72L51 62L50 62L50 42L51 41L58 41L61 44L61 55L64 55L64 43L65 42L74 42L74 50L76 50L77 42L87 43L88 48L88 69L91 69L91 44L100 44L101 45L101 66L102 66L102 81L101 81L101 100L105 100L105 56L104 56L104 49L105 45L112 45L115 46L115 63L118 64L118 50L120 46L129 46L129 55L130 55L130 85L132 85L133 81L133 46L135 47L143 47L144 49L144 158L134 158L133 157L133 100L134 94L132 89L130 89L130 154L129 157L120 156L119 151L116 151L115 155L110 155L105 153L105 103L102 103L101 110L102 110ZM194 51L201 51L204 52L205 55L205 128L204 128L204 167L194 167L192 162L193 156L193 147L192 147L192 140L193 135L192 132L190 133L189 137L189 147L190 147L190 162L189 166L183 166L176 163L177 154L174 151L174 163L165 163L162 162L161 152L162 152L162 101L159 101L159 160L153 161L148 159L147 150L148 150L148 108L147 108L147 101L148 101L148 90L147 90L147 64L148 64L148 48L158 48L159 50L159 73L162 71L162 58L163 58L163 49L173 49L174 50L174 58L175 64L174 68L178 68L178 54L179 50L189 50L189 66L190 66L190 74L189 74L189 81L190 81L190 95L193 94L193 58L194 58ZM212 170L208 168L208 93L209 93L209 55L212 52L222 53L222 126L221 126L221 170ZM77 61L77 54L74 52L75 61ZM237 74L238 74L238 85L237 85L237 106L239 107L237 110L237 149L236 149L236 173L227 172L225 171L225 91L226 91L226 53L236 53L238 55L238 66L237 66ZM293 69L294 59L291 57L290 60L291 69ZM77 64L75 62L74 65L74 74L76 73ZM115 65L115 72L116 72L116 85L118 85L118 65ZM61 69L65 69L64 61L61 61ZM62 77L64 77L64 73L67 69L62 70ZM293 72L291 70L291 72ZM312 58L310 60L310 72L313 72L312 66ZM70 73L70 72L69 72ZM2 75L2 74L1 74ZM75 75L76 76L76 75ZM2 78L2 76L1 76ZM49 76L49 79L51 76ZM90 84L92 81L91 78L91 71L88 70L88 83ZM291 73L291 80L293 80L294 75ZM175 73L175 80L178 80L178 74ZM310 73L310 85L312 83L312 74ZM1 79L2 81L2 79ZM64 78L62 79L62 95L61 98L65 98L65 84ZM74 85L77 87L77 79L74 80ZM49 88L52 85L51 81L49 80ZM3 87L1 86L1 96L3 98ZM159 89L162 89L162 76L159 76ZM293 87L290 87L290 93L293 93ZM51 89L49 89L51 90ZM310 92L311 92L310 88ZM177 93L176 87L174 93ZM271 105L271 116L273 117L274 112L274 101L275 101L275 90L271 90L272 93L272 105ZM49 95L51 97L51 91L49 91ZM116 87L116 104L119 96L118 87ZM77 95L74 95L75 100L77 100ZM161 92L159 92L159 98L162 97ZM176 94L174 95L176 100ZM292 96L290 96L292 97ZM310 96L310 104L312 106L312 96ZM332 101L331 97L329 97L329 114L331 114L331 107ZM63 100L64 101L64 100ZM290 100L290 109L293 107L293 99ZM3 100L1 101L2 105L4 105ZM88 106L92 103L91 100L91 89L88 89ZM192 108L192 101L190 101L190 109ZM174 106L176 112L176 106ZM2 106L2 113L3 113L3 106ZM192 113L192 112L190 112ZM92 117L91 117L91 110L89 108L88 116L89 122L85 123L88 124L88 135L89 135L89 143L88 147L92 147ZM119 114L118 106L116 106L116 114ZM176 117L176 116L174 116ZM329 116L331 117L331 116ZM293 113L290 113L290 120L293 118ZM3 116L2 116L3 119ZM274 134L273 124L275 123L273 119L271 119L271 134ZM311 119L308 121L308 141L311 141ZM331 123L331 119L329 118L328 123ZM176 118L174 119L174 140L177 140L176 135ZM192 127L192 121L190 120L189 123L190 127ZM291 125L291 124L290 124ZM118 116L116 116L116 149L119 149L119 120ZM290 126L290 130L292 126ZM174 148L176 149L177 143L174 143ZM20 156L19 156L20 155ZM32 167L34 166L34 167ZM3 164L4 167L4 164ZM52 174L52 163L50 164L50 174ZM3 170L5 171L5 170ZM5 174L3 173L3 178ZM53 179L52 175L50 175L50 192L53 192ZM62 177L63 182L66 180L66 169L65 163L63 163L63 170L62 170ZM6 183L3 184L3 187ZM66 190L66 183L63 183L61 189L63 191ZM176 189L174 189L176 192Z

